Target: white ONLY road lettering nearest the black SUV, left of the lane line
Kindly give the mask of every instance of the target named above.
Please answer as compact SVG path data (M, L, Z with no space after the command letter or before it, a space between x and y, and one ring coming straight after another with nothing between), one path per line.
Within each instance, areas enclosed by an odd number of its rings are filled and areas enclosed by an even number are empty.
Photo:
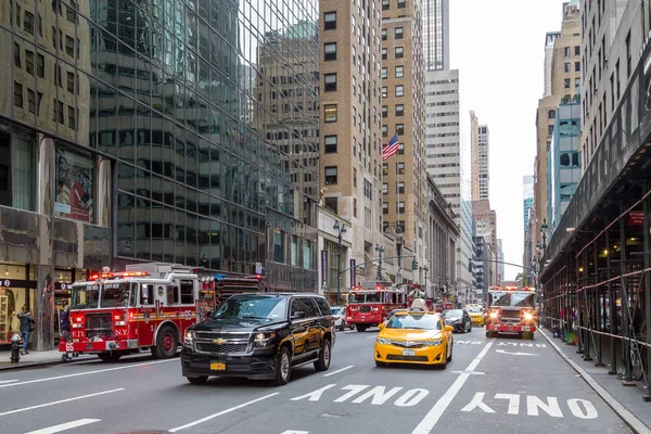
M296 396L290 400L304 400L319 401L323 396L323 393L335 387L336 384L328 384L321 388L317 388L314 392L305 395ZM430 391L424 388L410 388L404 391L404 387L386 387L386 386L374 386L371 387L368 384L348 384L340 388L340 392L334 393L335 390L328 393L328 399L333 399L334 403L353 403L362 404L370 403L373 406L381 406L383 404L393 401L396 407L413 407L422 401L425 396L430 394Z

